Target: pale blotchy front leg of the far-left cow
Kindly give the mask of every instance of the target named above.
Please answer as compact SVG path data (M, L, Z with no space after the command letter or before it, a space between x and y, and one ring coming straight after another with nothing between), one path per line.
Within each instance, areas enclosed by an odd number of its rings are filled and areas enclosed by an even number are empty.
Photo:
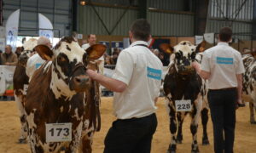
M20 96L15 95L15 102L20 112L20 125L21 125L20 138L18 139L18 143L26 144L26 136L27 136L26 112L25 112L22 100L26 100L26 98L23 95L20 95Z

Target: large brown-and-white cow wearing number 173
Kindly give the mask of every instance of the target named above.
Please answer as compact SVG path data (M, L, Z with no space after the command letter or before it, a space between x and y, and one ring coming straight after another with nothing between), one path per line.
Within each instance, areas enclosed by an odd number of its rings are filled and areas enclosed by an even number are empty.
M89 116L86 110L98 109L88 104L97 101L98 96L91 100L88 95L95 92L93 88L97 86L86 75L86 70L91 60L104 54L106 47L96 44L85 52L73 37L63 37L52 50L44 45L35 49L47 61L34 72L27 89L25 111L32 152L60 152L63 148L65 152L75 152L78 148L79 152L90 152L91 149L86 149L91 143L93 130L90 128L96 126L91 122L95 116ZM58 134L63 131L63 137L71 135L71 140L56 141L53 137L47 140L48 135L57 134L49 125L66 125L59 128Z

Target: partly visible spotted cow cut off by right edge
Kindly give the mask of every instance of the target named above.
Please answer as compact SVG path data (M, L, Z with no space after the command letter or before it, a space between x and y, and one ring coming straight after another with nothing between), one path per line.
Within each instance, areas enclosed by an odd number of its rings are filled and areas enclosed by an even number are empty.
M249 98L250 122L256 124L254 111L256 111L256 59L251 54L242 56L245 73L242 79L242 96Z

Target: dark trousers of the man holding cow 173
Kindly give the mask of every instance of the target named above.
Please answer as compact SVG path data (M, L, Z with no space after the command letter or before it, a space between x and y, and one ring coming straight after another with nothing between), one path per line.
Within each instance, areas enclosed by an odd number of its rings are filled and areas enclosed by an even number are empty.
M108 130L104 153L149 153L156 127L155 114L116 120Z

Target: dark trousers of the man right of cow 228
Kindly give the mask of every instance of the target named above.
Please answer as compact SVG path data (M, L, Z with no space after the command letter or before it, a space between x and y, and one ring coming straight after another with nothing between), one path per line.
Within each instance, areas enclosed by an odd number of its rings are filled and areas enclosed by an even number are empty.
M236 126L236 88L210 90L210 105L215 153L233 153Z

